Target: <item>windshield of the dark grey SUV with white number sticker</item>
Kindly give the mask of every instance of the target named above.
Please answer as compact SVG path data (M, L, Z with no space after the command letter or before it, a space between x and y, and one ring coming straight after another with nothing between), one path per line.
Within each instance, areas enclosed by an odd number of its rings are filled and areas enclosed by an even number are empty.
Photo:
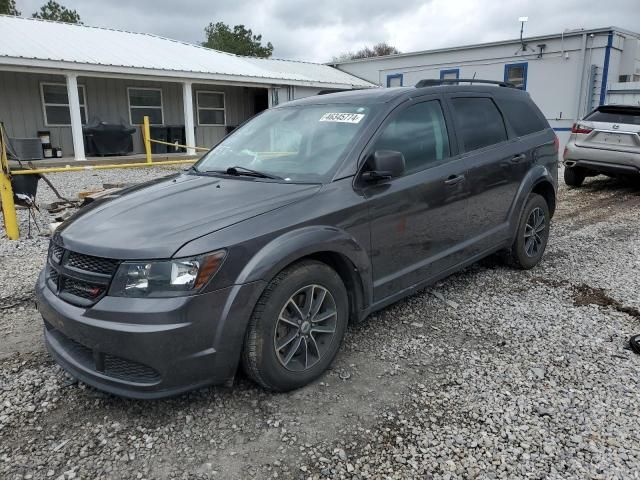
M196 165L195 172L322 183L367 123L368 106L281 107L250 120Z

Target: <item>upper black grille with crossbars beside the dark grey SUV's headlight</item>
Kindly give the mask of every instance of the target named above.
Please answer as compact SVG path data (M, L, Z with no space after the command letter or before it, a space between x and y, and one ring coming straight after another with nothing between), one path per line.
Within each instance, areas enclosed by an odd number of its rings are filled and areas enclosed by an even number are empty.
M118 260L69 251L59 235L51 239L47 284L71 304L81 307L95 304L107 293L117 268Z

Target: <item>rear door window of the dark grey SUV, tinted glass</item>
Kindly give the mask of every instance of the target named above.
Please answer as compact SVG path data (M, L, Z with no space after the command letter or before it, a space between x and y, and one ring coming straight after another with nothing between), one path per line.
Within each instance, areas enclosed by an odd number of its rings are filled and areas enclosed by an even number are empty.
M502 115L490 98L460 97L451 102L465 151L488 147L507 139Z

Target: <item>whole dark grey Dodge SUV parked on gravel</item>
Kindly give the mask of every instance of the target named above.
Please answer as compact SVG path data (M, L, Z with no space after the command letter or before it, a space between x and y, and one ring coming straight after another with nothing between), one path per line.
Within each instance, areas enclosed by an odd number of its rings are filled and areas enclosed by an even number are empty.
M535 266L558 142L526 92L474 82L289 102L81 209L36 286L49 351L122 396L229 383L240 364L286 391L350 321L493 252Z

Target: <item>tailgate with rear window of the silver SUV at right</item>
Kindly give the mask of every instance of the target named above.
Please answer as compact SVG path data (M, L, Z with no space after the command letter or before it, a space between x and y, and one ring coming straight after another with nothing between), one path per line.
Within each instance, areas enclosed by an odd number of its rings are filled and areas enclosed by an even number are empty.
M579 147L640 153L640 108L598 107L574 130L575 144ZM606 156L602 160L606 161Z

